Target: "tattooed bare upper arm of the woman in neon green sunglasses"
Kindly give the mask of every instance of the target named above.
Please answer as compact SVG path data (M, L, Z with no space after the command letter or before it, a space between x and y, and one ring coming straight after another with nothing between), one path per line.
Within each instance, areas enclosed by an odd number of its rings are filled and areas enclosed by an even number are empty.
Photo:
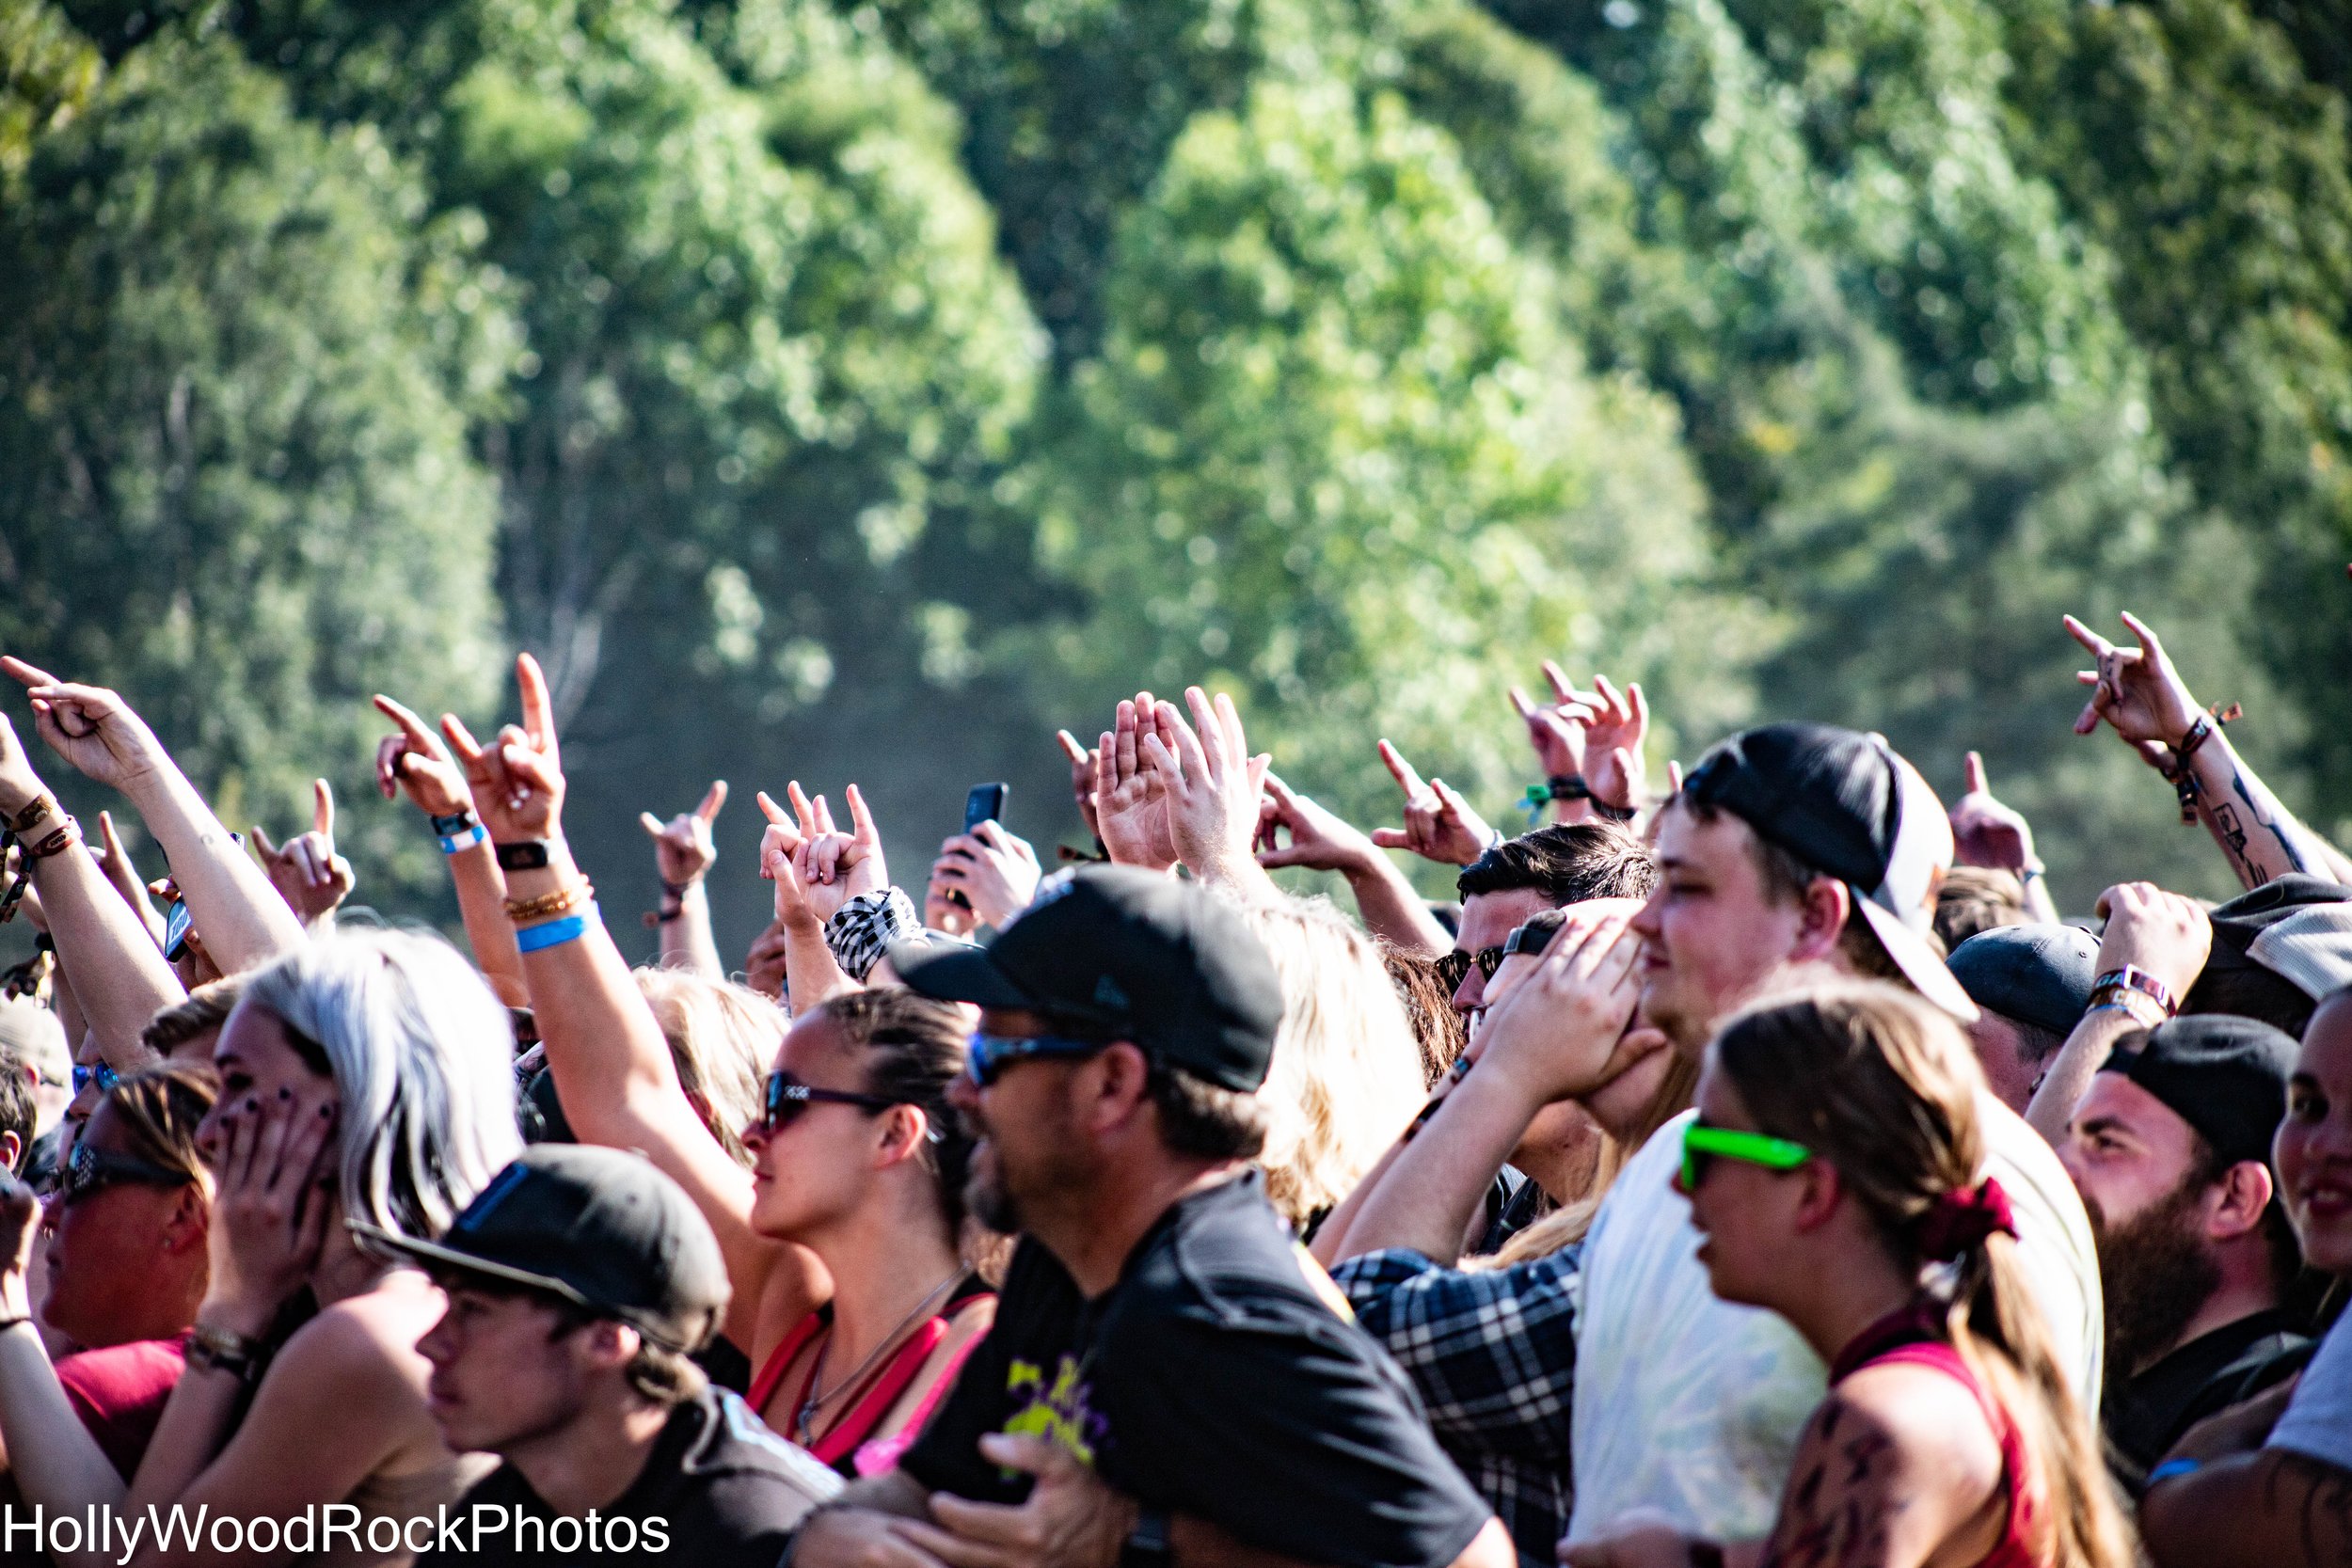
M1762 1563L1973 1563L1999 1542L2006 1509L2002 1448L1976 1396L1924 1366L1865 1366L1813 1410Z

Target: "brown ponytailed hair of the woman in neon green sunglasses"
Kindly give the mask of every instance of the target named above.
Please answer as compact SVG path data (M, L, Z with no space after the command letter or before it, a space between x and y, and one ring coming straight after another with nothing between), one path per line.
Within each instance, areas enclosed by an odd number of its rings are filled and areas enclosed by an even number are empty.
M1715 1060L1757 1128L1830 1161L1889 1255L1924 1274L1919 1220L1947 1194L1976 1187L1985 1157L1976 1114L1985 1081L1959 1027L1889 985L1839 985L1738 1013L1717 1037ZM2016 1425L2025 1465L2046 1488L2034 1561L2129 1568L2131 1535L2098 1434L2058 1368L2013 1237L1992 1234L1962 1253L1945 1331Z

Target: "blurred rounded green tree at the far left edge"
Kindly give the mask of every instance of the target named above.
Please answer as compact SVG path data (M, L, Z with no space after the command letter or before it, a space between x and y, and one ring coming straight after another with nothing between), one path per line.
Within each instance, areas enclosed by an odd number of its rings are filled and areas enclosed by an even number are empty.
M372 129L303 125L188 38L0 202L0 646L120 684L233 820L306 823L372 691L496 675L466 416L508 329L468 228L426 219ZM379 879L383 825L346 830Z

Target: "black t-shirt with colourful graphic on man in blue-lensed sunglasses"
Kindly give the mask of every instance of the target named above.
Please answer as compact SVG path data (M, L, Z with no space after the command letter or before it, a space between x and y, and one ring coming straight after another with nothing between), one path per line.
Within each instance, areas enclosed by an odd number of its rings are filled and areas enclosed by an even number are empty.
M1023 1239L997 1324L901 1469L1018 1502L988 1432L1058 1441L1145 1507L1341 1568L1439 1568L1491 1509L1411 1382L1352 1321L1249 1173L1169 1208L1089 1302Z

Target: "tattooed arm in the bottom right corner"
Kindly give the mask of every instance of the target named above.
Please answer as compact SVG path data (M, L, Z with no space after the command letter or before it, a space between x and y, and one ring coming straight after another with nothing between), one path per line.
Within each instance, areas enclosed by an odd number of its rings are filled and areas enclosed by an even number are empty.
M2352 1563L2352 1469L2260 1448L2159 1481L2140 1500L2157 1568Z

